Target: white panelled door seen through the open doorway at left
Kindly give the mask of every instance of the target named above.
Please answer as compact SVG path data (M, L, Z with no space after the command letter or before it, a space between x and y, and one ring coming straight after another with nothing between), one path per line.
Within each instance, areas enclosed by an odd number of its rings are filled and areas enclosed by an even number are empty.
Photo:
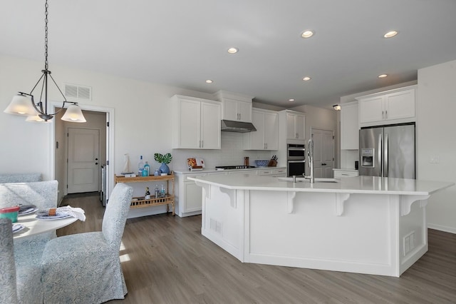
M99 191L100 132L68 128L68 193Z

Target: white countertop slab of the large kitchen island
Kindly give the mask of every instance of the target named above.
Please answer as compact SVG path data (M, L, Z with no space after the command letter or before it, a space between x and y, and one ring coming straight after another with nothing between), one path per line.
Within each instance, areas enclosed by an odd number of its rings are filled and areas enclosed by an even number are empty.
M276 178L271 176L236 176L208 175L189 177L189 180L212 186L239 190L264 191L298 191L326 193L368 193L426 196L435 191L454 186L455 183L445 181L420 181L405 178L380 178L376 176L357 176L336 179L336 182L309 183L304 178Z

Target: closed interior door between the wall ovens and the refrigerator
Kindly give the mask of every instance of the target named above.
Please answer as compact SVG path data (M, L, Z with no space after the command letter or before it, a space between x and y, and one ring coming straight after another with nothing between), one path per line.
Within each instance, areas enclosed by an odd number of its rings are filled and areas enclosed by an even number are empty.
M332 178L334 168L333 131L312 128L314 135L314 174L316 178Z

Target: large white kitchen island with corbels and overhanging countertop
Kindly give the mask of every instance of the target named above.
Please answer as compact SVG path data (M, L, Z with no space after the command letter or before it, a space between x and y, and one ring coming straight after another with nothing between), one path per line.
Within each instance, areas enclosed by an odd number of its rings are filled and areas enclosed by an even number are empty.
M244 263L395 277L427 251L427 198L454 185L372 176L189 179L204 189L202 234Z

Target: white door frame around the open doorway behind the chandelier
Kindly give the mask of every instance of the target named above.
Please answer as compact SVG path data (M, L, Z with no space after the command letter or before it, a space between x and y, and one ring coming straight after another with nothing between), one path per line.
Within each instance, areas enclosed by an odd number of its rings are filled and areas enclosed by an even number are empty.
M62 106L61 102L51 102L51 112L55 113L57 108ZM114 108L105 106L90 106L78 103L81 110L103 112L106 113L106 193L105 196L109 198L110 191L114 185L114 175L111 172L115 172L115 161L114 161ZM109 125L109 126L108 126ZM49 171L48 176L51 180L56 179L56 126L55 123L49 123Z

